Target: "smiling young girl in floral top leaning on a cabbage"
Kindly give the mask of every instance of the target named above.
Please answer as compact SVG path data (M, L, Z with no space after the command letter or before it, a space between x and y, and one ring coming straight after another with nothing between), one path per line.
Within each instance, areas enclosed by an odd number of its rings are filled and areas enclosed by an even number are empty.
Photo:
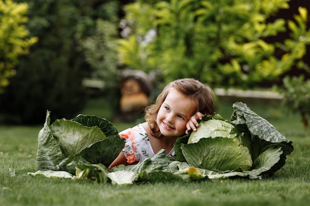
M146 122L119 133L126 139L125 147L109 168L142 162L161 149L174 156L176 139L191 129L196 131L197 121L204 115L213 115L213 95L207 84L194 79L167 84L155 104L146 108Z

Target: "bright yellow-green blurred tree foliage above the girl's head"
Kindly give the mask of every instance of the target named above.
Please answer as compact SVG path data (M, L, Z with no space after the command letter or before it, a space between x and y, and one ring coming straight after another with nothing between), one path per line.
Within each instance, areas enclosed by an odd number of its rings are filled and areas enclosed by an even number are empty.
M131 32L119 42L120 59L134 69L159 70L166 82L185 77L227 87L273 82L294 64L305 66L301 59L310 43L305 8L294 21L267 21L288 8L288 1L138 0L125 8ZM286 27L290 39L267 41Z

